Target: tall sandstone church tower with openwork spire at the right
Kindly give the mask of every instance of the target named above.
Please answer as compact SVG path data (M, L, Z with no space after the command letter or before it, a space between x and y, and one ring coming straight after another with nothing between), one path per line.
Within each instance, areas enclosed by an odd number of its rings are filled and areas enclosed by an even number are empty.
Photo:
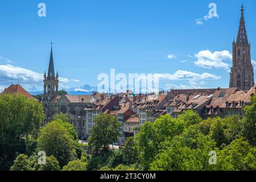
M250 90L254 86L254 73L253 65L251 64L251 45L247 38L243 11L242 5L237 42L233 42L233 63L230 72L229 88Z

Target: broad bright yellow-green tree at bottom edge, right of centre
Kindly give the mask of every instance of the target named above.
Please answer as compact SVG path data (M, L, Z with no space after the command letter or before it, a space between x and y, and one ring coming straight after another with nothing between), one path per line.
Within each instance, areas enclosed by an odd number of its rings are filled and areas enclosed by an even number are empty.
M175 136L166 143L166 150L162 150L153 162L150 169L153 171L191 171L210 170L208 154L218 151L215 142L203 134L191 137L191 134Z

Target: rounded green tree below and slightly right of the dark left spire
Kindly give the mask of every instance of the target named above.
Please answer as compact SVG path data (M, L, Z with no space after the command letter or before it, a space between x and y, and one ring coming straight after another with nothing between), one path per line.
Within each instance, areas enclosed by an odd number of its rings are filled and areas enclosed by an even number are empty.
M60 167L76 159L76 151L73 147L73 137L59 121L47 123L40 130L38 138L38 150L45 151L47 156L55 156L60 162Z

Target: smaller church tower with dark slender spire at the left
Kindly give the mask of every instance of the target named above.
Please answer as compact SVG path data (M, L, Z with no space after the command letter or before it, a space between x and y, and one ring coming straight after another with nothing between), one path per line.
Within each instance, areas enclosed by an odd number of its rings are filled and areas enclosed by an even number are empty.
M55 77L52 46L51 46L51 56L49 59L48 75L46 75L46 72L44 72L44 94L42 98L44 107L47 107L47 102L50 102L54 96L57 96L58 89L59 89L59 74L57 72Z

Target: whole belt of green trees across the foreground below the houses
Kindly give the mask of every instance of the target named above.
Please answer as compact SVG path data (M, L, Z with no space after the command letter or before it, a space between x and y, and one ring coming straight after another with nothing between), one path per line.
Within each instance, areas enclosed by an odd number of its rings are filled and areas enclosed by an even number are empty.
M74 170L256 170L256 96L245 115L203 120L192 110L178 118L163 115L146 122L127 138L125 146L110 150L117 141L117 117L94 118L89 138L92 155L81 148L76 130L64 114L40 128L42 105L26 97L0 96L0 169L19 171ZM39 151L46 164L39 164ZM209 163L209 152L217 163ZM211 154L211 153L210 153Z

